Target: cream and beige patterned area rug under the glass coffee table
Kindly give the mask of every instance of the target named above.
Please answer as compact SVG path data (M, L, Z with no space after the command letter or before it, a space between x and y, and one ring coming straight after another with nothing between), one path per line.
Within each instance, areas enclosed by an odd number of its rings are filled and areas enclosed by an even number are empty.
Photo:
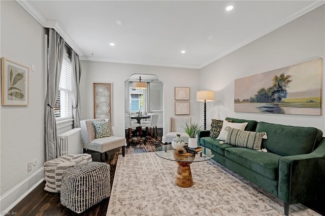
M177 166L154 152L119 156L107 215L284 215L281 200L214 161L191 164L190 188L175 185ZM295 204L289 215L320 214Z

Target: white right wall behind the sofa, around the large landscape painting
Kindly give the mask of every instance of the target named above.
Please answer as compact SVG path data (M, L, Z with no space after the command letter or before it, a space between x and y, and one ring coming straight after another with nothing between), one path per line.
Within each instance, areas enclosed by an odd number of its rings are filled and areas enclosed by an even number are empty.
M210 128L211 118L224 119L229 116L316 127L324 131L324 111L320 116L234 112L235 79L294 65L314 57L324 58L324 12L324 6L321 6L202 68L200 87L214 90L216 95L215 102L207 103L207 128Z

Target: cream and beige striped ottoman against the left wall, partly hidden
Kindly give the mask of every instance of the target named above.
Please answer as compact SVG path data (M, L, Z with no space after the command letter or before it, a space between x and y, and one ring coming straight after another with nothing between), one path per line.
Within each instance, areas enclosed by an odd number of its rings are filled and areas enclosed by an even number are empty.
M78 164L84 164L91 161L91 155L84 153L79 155L64 155L45 162L43 165L46 180L44 190L54 193L60 192L63 172Z

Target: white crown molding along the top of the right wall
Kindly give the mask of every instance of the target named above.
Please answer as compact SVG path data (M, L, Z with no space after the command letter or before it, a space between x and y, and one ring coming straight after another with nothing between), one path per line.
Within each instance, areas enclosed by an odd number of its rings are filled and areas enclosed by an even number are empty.
M250 38L250 39L248 39L248 40L246 40L246 41L244 41L244 42L242 42L240 44L237 44L236 46L234 46L234 47L232 47L232 48L230 48L230 49L222 52L221 54L215 56L214 58L211 58L210 60L207 60L205 63L203 63L202 65L199 66L199 69L202 69L203 67L205 67L205 66L213 63L213 61L216 61L219 58L222 58L222 57L224 57L224 56L226 56L226 55L234 52L235 50L237 50L237 49L239 49L239 48L241 48L241 47L243 47L243 46L245 46L245 45L247 45L247 44L255 41L256 39L261 38L261 37L269 34L273 30L275 30L275 29L277 29L277 28L279 28L279 27L287 24L288 22L291 22L291 21L297 19L298 17L300 17L300 16L302 16L302 15L304 15L304 14L306 14L306 13L308 13L308 12L310 12L310 11L318 8L318 7L320 7L323 4L325 4L325 1L324 0L318 0L318 1L316 1L315 3L309 5L306 8L298 11L297 13L289 16L287 19L284 19L284 20L280 21L279 23L277 23L277 24L275 24L275 25L273 25L273 26L271 26L269 28L266 28L262 32L256 34L254 37L252 37L252 38Z

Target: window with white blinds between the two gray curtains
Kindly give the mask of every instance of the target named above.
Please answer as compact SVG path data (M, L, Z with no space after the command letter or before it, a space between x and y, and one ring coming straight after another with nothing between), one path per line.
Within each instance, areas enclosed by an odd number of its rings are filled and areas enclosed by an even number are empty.
M71 60L64 50L59 90L54 106L56 120L72 118L72 70Z

